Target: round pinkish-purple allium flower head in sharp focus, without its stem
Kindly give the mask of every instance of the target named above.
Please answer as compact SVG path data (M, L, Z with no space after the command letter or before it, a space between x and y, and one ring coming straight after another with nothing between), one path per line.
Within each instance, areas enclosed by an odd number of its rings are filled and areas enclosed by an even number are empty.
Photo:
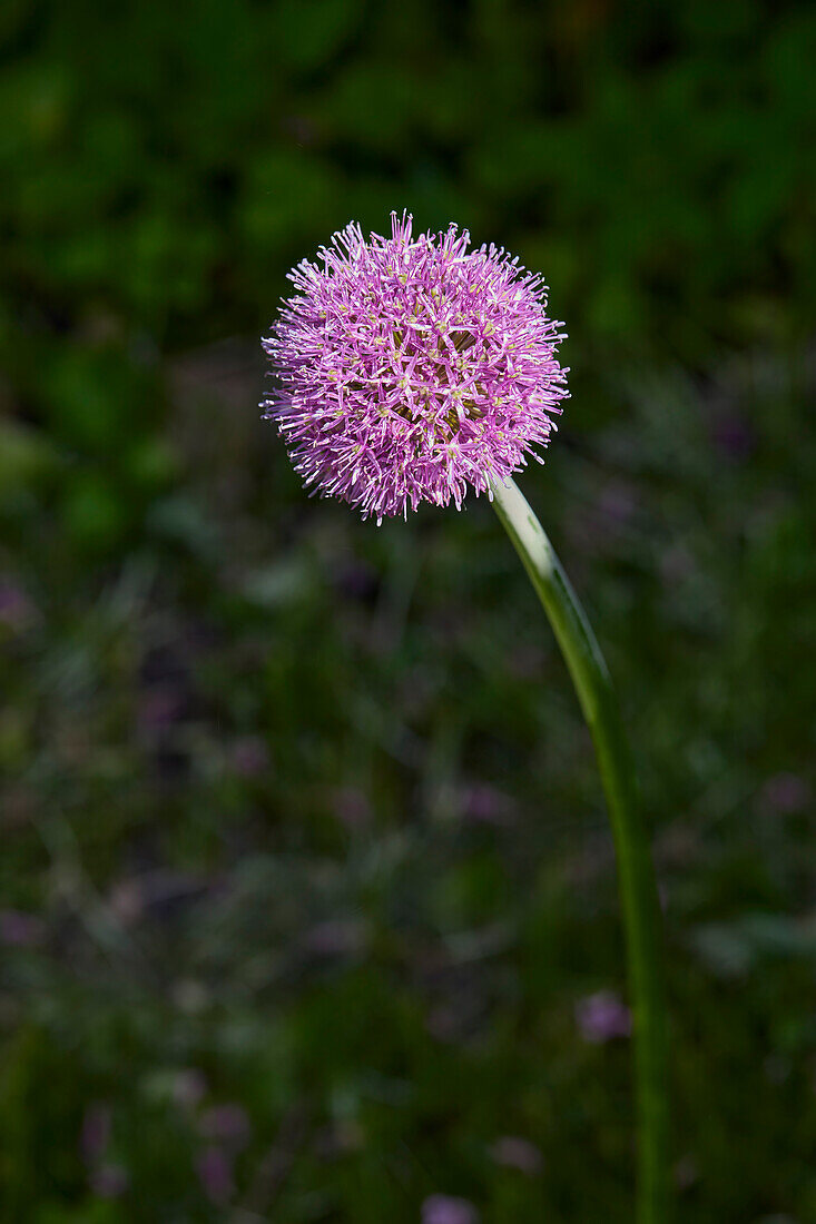
M261 406L295 469L377 521L458 509L468 485L540 460L567 394L540 277L468 251L456 225L414 237L409 215L391 222L391 237L352 224L299 263L263 340L277 386Z

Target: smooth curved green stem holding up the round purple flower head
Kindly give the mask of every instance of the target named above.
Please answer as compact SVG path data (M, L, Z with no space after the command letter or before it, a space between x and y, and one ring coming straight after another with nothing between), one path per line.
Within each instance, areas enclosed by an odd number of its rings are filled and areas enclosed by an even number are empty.
M665 1224L668 1104L660 907L635 769L606 663L559 558L512 480L491 486L493 504L544 605L595 745L618 858L635 1018L638 1224Z

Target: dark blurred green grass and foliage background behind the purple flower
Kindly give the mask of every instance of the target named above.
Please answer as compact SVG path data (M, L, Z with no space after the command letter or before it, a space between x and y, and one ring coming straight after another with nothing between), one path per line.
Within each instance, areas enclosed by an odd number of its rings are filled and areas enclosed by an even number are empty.
M288 267L408 208L570 332L522 485L653 821L679 1218L812 1224L812 6L7 0L0 47L0 1218L631 1220L526 579L259 420Z

